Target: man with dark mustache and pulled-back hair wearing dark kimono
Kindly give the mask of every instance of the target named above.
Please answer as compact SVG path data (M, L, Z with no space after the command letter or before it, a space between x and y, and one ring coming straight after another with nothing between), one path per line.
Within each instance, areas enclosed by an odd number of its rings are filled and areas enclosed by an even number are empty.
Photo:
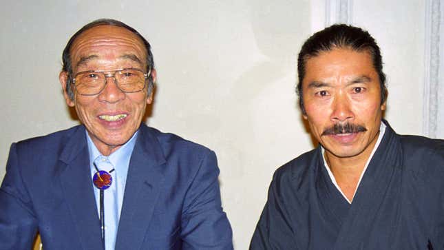
M298 58L300 107L319 147L280 167L251 249L442 249L444 141L383 120L381 52L332 25Z

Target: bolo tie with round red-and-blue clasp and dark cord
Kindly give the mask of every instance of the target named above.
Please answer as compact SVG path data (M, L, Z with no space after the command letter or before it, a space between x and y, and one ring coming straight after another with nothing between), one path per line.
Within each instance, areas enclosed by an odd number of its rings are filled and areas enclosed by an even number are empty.
M96 169L96 174L94 174L92 178L92 182L94 186L96 186L100 190L100 220L101 220L101 233L102 233L102 244L103 249L105 249L105 209L104 209L104 197L103 191L108 189L112 185L112 176L111 173L114 171L114 168L109 172L105 170L98 170L96 163L94 164L94 168Z

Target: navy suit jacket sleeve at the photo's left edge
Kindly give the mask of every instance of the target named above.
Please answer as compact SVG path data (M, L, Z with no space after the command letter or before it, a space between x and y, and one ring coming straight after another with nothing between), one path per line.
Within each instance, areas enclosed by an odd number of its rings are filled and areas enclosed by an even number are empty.
M15 144L10 148L6 176L0 187L0 249L31 249L37 221L32 201L21 178Z

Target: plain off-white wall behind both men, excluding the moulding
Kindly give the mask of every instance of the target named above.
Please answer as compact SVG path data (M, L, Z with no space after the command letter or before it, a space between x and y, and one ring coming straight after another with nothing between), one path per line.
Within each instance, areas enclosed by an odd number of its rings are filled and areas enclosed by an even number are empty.
M294 93L296 56L325 19L326 1L34 2L8 1L0 10L0 166L10 143L77 124L58 82L61 52L85 23L120 19L153 46L158 85L147 123L215 150L235 248L247 249L273 171L313 148ZM398 132L419 134L424 4L351 8L352 23L374 34L383 52L386 118Z

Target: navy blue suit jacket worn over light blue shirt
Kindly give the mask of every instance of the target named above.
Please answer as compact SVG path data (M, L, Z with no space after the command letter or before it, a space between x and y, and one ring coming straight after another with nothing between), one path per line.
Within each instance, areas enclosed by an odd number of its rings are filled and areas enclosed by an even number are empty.
M141 125L116 249L233 249L215 154ZM85 127L12 144L0 189L0 249L103 249Z

